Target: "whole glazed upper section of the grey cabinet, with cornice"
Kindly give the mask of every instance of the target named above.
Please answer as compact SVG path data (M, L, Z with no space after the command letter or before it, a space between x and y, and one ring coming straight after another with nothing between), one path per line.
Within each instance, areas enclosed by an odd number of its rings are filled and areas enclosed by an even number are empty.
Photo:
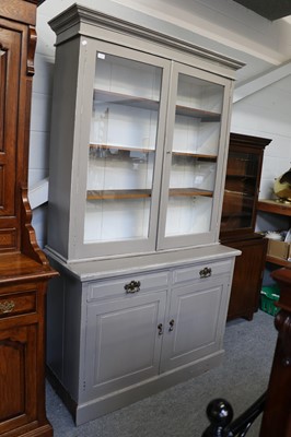
M50 25L49 249L78 260L218 243L241 64L83 7Z

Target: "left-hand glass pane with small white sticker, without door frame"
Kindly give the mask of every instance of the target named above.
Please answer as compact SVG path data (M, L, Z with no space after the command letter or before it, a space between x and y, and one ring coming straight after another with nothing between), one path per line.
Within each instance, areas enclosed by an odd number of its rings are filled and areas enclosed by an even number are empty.
M149 236L162 69L96 55L84 243Z

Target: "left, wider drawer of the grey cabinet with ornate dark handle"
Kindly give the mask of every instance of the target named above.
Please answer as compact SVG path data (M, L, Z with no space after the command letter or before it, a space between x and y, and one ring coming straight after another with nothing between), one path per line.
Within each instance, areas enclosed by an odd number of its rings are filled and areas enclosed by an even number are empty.
M133 274L118 280L98 281L89 285L88 302L107 297L135 296L143 292L165 288L167 284L168 272Z

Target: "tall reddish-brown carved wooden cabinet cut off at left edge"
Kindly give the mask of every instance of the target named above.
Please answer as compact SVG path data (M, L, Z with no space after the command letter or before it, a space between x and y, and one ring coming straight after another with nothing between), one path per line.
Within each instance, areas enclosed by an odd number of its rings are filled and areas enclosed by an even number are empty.
M0 435L53 436L45 412L45 294L56 275L27 201L36 0L0 0Z

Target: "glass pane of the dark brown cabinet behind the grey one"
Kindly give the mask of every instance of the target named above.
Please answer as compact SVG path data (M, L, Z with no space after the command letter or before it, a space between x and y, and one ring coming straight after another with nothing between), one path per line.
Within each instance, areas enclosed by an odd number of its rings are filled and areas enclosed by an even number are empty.
M230 152L221 231L253 226L258 156L244 152Z

